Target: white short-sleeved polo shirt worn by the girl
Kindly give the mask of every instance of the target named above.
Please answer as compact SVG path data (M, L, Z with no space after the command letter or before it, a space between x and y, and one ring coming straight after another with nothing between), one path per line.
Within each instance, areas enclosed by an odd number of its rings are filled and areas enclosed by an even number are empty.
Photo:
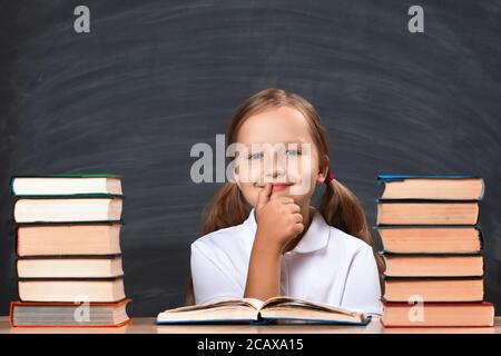
M254 210L243 224L191 244L196 304L244 296L257 228ZM327 225L316 209L303 238L282 257L281 294L366 314L383 312L371 246Z

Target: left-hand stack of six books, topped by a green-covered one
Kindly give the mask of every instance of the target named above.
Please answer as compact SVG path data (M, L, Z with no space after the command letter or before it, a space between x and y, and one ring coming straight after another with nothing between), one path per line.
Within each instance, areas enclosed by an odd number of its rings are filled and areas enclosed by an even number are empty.
M18 176L10 182L19 301L12 326L120 326L127 316L118 176Z

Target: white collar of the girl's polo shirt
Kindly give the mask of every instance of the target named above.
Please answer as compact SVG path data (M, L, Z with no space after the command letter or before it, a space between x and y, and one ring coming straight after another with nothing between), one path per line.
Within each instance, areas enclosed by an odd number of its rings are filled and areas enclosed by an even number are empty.
M247 227L249 233L249 249L252 249L254 237L257 230L257 222L254 211L255 208L252 208L247 219L244 221L244 225ZM327 222L325 222L322 214L317 209L314 209L314 215L310 228L306 230L306 234L304 234L303 238L299 240L299 243L297 243L294 249L291 250L291 253L308 254L317 251L327 246L330 234L331 227L327 225Z

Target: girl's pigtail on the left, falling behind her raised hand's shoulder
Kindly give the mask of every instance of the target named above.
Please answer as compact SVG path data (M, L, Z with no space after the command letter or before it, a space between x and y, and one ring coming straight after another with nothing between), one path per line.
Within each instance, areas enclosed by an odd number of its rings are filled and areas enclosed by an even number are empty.
M235 182L226 182L214 196L205 208L202 218L202 236L213 231L239 225L245 221L250 212L250 207ZM186 304L195 304L191 268L189 268Z

